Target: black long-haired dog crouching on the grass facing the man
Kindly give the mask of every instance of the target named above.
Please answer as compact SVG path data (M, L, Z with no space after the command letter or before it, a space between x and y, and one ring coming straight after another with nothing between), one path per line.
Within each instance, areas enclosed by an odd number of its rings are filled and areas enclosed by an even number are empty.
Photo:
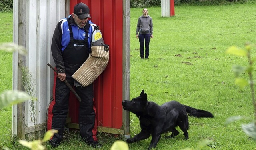
M182 105L177 101L170 101L159 106L155 102L147 100L147 94L144 90L139 97L133 98L131 101L123 100L122 106L124 110L128 110L139 118L141 131L133 138L126 140L128 143L137 142L152 136L152 140L148 147L156 148L156 144L160 140L161 134L172 132L172 135L167 138L173 138L179 134L175 129L179 126L184 132L185 139L188 139L188 115L197 118L213 118L212 113L204 110L192 108L190 106Z

